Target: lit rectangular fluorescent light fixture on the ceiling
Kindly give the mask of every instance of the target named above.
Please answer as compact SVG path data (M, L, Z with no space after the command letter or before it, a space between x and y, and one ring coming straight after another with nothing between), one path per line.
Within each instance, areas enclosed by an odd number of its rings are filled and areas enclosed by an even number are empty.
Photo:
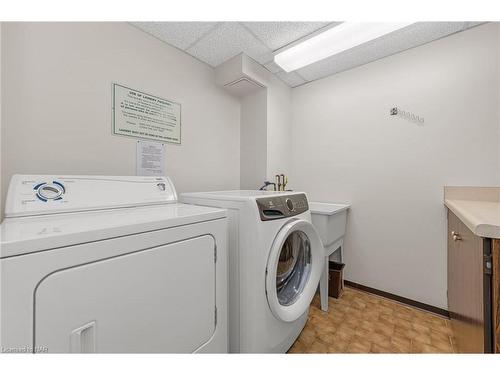
M402 29L413 22L343 22L274 56L285 72L300 69L337 53Z

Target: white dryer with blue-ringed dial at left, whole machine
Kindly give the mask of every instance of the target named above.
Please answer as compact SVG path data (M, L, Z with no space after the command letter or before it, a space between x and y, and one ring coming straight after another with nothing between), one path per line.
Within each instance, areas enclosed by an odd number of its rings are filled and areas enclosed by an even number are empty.
M227 352L225 210L165 177L12 178L1 349Z

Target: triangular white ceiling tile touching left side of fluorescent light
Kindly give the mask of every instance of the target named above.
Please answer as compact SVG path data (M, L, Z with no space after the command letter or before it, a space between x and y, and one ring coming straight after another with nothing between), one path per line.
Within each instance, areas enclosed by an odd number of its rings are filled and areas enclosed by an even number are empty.
M329 23L331 22L244 22L243 24L275 51Z

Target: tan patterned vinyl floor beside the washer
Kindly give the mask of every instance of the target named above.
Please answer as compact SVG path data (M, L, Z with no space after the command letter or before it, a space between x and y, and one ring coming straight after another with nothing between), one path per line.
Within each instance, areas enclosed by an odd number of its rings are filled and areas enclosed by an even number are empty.
M450 321L397 302L346 288L329 298L329 311L316 296L309 319L288 353L453 353Z

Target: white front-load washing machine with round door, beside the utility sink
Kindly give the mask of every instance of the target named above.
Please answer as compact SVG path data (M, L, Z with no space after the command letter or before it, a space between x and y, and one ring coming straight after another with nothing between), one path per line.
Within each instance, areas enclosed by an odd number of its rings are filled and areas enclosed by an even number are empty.
M324 264L306 195L238 190L181 201L228 211L230 352L286 352L307 321Z

